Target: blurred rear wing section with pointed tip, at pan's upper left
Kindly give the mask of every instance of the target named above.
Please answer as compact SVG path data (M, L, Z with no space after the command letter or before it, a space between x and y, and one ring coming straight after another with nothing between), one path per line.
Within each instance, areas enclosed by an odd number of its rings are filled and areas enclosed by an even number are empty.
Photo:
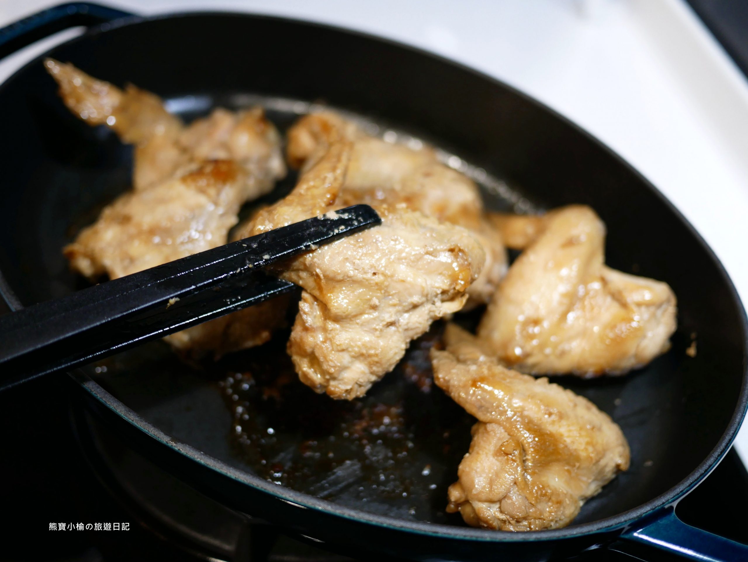
M120 90L52 58L44 65L70 112L92 126L109 126L123 142L135 145L135 190L179 176L202 162L233 160L247 172L242 189L250 200L269 192L286 173L278 131L262 109L215 109L209 117L184 126L155 94L133 85Z

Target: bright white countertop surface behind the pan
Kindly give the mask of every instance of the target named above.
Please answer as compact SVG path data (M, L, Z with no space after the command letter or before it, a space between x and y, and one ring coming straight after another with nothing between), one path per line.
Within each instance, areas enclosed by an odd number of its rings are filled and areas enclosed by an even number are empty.
M0 0L0 25L56 3ZM142 14L234 10L327 22L502 79L579 123L648 177L714 248L748 302L748 82L682 0L107 3ZM0 62L0 81L80 32L64 31ZM747 427L736 448L748 461Z

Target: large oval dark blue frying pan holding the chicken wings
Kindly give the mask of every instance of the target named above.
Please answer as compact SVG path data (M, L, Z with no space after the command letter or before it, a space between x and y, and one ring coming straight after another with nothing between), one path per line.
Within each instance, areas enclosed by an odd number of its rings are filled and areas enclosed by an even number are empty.
M542 560L642 543L696 560L748 558L746 546L675 515L744 417L744 309L693 227L607 147L459 64L289 19L140 18L67 4L1 31L0 55L73 25L88 31L49 55L154 91L186 118L212 106L263 103L283 129L310 103L323 102L368 117L375 132L440 147L450 165L479 181L489 207L589 204L609 230L607 263L667 281L679 307L672 349L645 369L591 382L559 379L621 425L632 466L573 525L553 531L484 531L444 513L470 419L430 385L426 356L438 326L411 346L398 373L353 404L331 403L294 383L282 342L203 370L180 363L160 342L149 344L70 373L100 422L206 495L359 557ZM84 286L68 272L61 248L129 184L131 150L111 132L77 121L55 89L40 59L0 88L0 272L11 308ZM685 350L693 340L692 358ZM340 439L341 424L371 439L368 449Z

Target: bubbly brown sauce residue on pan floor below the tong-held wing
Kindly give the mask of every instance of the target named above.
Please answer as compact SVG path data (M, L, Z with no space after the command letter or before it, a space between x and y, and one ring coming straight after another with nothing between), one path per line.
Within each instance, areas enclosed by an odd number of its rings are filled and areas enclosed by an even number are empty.
M352 401L299 382L283 337L245 355L242 370L218 382L233 415L233 453L300 492L443 519L474 419L433 385L429 350L441 344L441 330L437 323L411 343L392 373Z

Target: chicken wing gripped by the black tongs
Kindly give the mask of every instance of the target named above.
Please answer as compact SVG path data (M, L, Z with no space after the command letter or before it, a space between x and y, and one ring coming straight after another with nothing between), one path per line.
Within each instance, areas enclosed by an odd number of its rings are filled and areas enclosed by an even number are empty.
M352 143L324 117L325 153L282 201L242 228L251 236L343 207L338 196ZM288 343L302 382L352 399L392 370L415 337L459 311L485 254L468 230L405 206L375 207L382 224L295 257L281 277L301 285Z

